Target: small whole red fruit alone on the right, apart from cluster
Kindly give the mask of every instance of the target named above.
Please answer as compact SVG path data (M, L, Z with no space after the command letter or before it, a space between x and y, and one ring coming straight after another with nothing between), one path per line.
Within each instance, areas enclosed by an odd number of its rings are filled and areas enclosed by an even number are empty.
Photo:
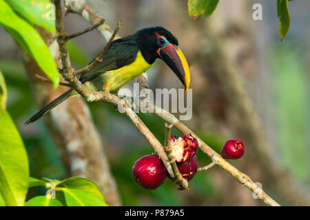
M245 153L245 146L238 139L227 140L224 144L220 155L226 159L238 159Z

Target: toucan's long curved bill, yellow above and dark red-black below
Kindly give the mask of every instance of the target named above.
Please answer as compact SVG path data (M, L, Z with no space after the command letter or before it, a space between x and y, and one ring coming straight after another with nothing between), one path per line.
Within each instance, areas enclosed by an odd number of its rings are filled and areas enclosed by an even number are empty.
M178 76L185 86L185 90L187 90L191 81L191 74L186 58L180 48L172 43L168 43L164 47L159 48L157 54Z

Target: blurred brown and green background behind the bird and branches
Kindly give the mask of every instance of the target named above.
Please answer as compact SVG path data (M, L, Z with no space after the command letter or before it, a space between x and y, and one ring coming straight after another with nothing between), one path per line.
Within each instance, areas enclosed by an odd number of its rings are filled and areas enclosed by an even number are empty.
M90 5L112 28L126 36L140 28L163 26L177 36L192 73L193 117L184 121L216 151L228 139L245 142L242 159L230 161L282 205L309 205L310 190L310 1L290 1L291 25L284 41L278 34L276 1L220 1L208 19L191 19L187 1L92 0ZM262 4L262 21L252 6ZM64 18L68 34L90 26L76 14ZM94 30L69 41L75 68L83 67L105 46ZM0 28L0 69L8 84L8 111L25 142L32 177L64 179L68 162L44 120L23 123L38 106L26 74L23 54ZM182 88L161 61L148 72L149 87ZM71 98L72 99L72 98ZM121 204L125 206L264 206L251 192L219 167L198 172L191 190L180 192L167 179L157 190L145 190L132 178L132 166L152 146L125 115L109 104L88 103L99 131ZM163 142L163 120L138 113ZM181 134L173 130L172 134ZM61 137L59 137L61 138ZM85 140L87 142L87 140ZM200 166L210 162L198 152ZM66 165L67 164L67 165ZM101 175L101 173L96 173ZM41 189L44 193L45 189ZM32 193L28 193L31 197Z

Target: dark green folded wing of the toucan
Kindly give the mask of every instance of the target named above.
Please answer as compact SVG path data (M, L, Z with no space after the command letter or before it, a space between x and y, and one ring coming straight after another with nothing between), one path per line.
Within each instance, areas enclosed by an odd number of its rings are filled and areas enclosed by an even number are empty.
M94 65L89 72L82 74L79 80L82 83L85 83L100 76L104 72L119 69L134 62L136 54L138 53L138 45L136 44L134 37L134 35L130 35L112 41L110 47L103 56L103 61Z

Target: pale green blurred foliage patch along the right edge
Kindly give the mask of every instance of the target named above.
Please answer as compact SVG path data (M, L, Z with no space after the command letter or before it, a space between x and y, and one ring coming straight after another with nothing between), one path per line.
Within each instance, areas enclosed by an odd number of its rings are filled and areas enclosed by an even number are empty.
M309 181L309 81L304 69L304 48L298 43L277 44L271 53L280 161L302 181Z

